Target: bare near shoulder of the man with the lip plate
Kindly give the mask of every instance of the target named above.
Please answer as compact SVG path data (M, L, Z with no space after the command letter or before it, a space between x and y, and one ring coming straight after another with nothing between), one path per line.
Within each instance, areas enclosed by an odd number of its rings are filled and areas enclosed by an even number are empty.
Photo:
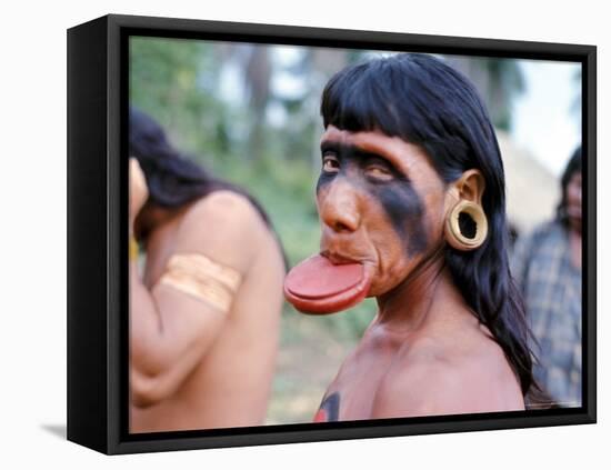
M523 409L517 378L501 348L482 337L460 342L419 338L381 382L373 418Z

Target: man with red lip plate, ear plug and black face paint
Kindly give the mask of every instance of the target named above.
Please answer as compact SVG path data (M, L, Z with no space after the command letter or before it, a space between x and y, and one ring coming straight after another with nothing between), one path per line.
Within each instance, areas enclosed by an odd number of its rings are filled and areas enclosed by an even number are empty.
M284 294L314 314L374 297L378 313L314 421L523 410L530 333L473 86L440 59L398 54L337 73L321 112L320 253Z

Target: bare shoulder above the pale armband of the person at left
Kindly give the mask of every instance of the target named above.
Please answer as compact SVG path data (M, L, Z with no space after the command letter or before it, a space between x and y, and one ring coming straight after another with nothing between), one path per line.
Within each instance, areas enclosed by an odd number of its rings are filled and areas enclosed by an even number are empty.
M264 237L269 237L269 230L248 198L220 190L186 211L176 251L201 252L246 272Z

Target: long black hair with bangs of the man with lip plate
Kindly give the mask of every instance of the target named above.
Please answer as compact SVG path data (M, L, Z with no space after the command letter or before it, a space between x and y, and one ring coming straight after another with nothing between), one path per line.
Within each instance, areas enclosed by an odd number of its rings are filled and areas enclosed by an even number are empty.
M485 179L489 232L473 251L445 248L445 263L474 316L493 334L522 393L533 384L531 338L508 259L504 171L488 111L461 73L432 56L401 53L349 67L322 94L324 128L380 131L420 146L445 183L470 169Z

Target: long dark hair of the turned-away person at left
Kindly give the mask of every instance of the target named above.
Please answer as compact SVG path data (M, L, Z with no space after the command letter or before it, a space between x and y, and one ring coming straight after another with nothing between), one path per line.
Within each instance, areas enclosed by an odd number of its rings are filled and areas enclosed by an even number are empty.
M179 209L213 191L230 190L248 198L270 226L267 213L250 194L212 177L174 149L161 126L134 107L129 111L129 152L130 157L138 159L144 172L149 188L148 206Z

